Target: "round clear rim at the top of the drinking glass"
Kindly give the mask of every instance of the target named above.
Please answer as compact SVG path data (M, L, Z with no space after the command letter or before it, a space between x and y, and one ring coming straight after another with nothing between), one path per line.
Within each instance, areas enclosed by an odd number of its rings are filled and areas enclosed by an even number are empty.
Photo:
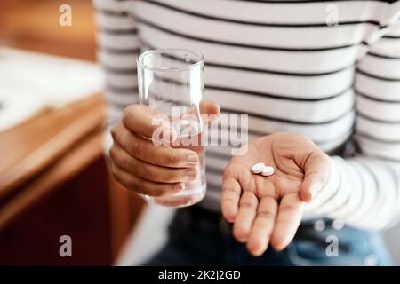
M154 66L149 66L146 64L143 64L141 62L141 59L143 59L144 57L148 56L149 54L155 54L155 53L172 53L173 51L179 51L179 52L187 52L187 53L191 53L193 55L196 55L199 59L196 60L195 63L192 64L188 64L186 66L182 66L182 67L154 67ZM155 50L149 50L149 51L145 51L143 53L140 54L140 56L138 57L138 59L136 59L136 62L138 64L138 66L148 69L148 70L152 70L152 71L160 71L160 72L165 72L165 71L187 71L190 69L193 69L194 67L197 67L198 65L202 65L204 64L204 55L202 53L196 52L196 51L190 51L187 49L181 49L181 48L164 48L164 49L155 49Z

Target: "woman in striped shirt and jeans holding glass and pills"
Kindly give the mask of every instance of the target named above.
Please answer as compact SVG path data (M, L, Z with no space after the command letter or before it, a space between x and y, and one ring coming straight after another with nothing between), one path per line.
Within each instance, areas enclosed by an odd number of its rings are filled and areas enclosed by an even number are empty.
M204 201L178 210L148 264L390 264L376 231L400 209L400 1L94 2L108 148L126 188L182 189L193 154L142 138L153 129L140 51L203 53L205 97L249 114L248 153L207 152ZM254 177L257 160L276 174Z

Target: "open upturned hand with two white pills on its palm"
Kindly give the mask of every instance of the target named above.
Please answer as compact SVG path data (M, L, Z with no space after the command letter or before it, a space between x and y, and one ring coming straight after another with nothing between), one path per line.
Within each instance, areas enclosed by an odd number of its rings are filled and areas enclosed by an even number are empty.
M269 177L254 175L252 165L275 168ZM300 225L303 202L324 188L330 176L330 158L309 138L276 133L247 145L224 171L221 193L223 216L234 223L238 241L254 256L268 248L285 248Z

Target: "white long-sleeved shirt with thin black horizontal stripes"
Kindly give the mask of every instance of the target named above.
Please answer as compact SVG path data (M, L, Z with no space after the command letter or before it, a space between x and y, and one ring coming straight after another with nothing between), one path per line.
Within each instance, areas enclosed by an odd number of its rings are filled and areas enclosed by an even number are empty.
M94 0L108 125L139 102L141 51L205 57L206 99L249 114L249 139L307 135L332 175L306 216L379 230L400 215L400 1ZM110 137L108 136L108 146ZM229 149L206 154L205 207L219 209Z

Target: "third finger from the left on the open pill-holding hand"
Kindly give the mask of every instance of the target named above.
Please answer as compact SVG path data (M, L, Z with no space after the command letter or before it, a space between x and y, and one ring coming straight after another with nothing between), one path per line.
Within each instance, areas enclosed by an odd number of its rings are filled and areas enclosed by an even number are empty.
M272 196L262 197L257 216L247 242L247 249L253 256L262 255L268 248L269 238L275 225L278 203Z

